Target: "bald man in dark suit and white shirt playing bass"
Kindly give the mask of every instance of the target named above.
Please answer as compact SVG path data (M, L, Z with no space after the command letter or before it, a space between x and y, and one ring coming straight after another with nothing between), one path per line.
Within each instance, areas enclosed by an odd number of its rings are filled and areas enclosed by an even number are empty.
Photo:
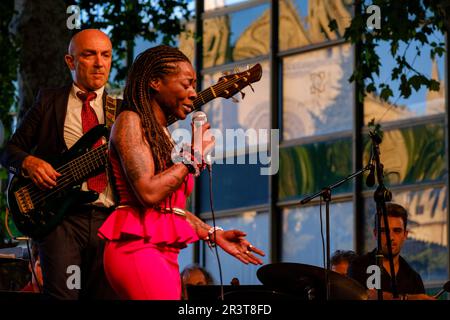
M71 39L64 58L73 82L39 92L1 159L2 165L11 172L28 176L43 190L55 187L60 176L44 159L67 151L84 134L86 117L82 119L80 93L95 93L95 98L87 103L98 123L105 123L105 84L112 61L109 37L95 29L80 31ZM82 190L90 188L86 181L82 184ZM56 299L114 298L103 273L103 243L97 237L97 229L115 203L110 183L103 188L98 191L97 200L71 207L55 229L35 239L39 245L45 294ZM78 269L73 266L80 268L79 283L75 275Z

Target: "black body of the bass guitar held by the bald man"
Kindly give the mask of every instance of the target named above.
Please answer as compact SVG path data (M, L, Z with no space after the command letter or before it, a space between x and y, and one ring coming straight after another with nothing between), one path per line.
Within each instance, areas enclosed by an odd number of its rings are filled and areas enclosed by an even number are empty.
M71 207L98 198L97 192L81 191L80 187L86 170L94 175L104 168L106 146L98 147L98 152L91 148L106 135L106 127L99 125L83 135L65 153L46 159L62 174L57 179L57 185L51 189L41 190L31 179L21 175L12 178L7 193L8 207L22 234L31 238L44 237L61 222Z

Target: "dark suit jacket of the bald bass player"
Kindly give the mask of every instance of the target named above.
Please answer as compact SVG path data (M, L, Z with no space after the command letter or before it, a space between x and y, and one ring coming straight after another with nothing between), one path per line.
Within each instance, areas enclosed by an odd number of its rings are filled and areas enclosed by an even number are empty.
M67 150L64 141L64 121L72 84L40 90L30 110L6 144L1 156L2 165L12 173L20 173L22 162L32 154L46 159ZM117 108L120 107L120 100ZM103 94L103 109L106 91ZM119 113L117 110L116 114ZM105 116L106 118L106 116Z

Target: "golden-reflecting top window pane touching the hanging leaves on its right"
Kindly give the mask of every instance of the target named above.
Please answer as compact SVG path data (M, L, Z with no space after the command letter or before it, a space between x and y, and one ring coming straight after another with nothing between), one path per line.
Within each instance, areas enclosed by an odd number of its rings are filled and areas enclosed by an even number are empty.
M352 17L351 0L282 0L280 4L280 50L338 39ZM336 19L338 30L328 24Z

